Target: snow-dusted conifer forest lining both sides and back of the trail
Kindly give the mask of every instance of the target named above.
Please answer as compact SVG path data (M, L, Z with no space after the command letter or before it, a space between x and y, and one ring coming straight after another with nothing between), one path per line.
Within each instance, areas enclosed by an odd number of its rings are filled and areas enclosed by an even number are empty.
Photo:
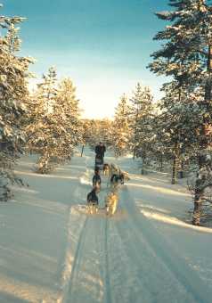
M75 148L94 148L102 140L117 158L139 158L141 174L168 171L172 184L188 178L192 225L200 225L212 203L212 6L205 0L169 2L169 12L157 12L167 26L153 37L160 47L147 67L167 77L163 97L156 100L138 79L131 95L123 88L114 119L82 118L77 84L58 80L53 67L30 91L36 63L20 56L20 25L27 21L0 15L1 201L12 197L11 184L26 185L14 174L22 154L37 154L35 173L49 174L71 161Z

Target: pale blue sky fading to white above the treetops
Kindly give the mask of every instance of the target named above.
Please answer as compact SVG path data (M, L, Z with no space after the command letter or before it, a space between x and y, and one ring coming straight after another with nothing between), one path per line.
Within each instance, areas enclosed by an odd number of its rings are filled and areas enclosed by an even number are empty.
M1 0L1 14L27 17L21 26L22 53L37 61L40 78L55 66L73 79L89 118L111 117L121 94L138 81L159 98L163 78L146 66L159 45L152 37L165 23L154 12L167 0Z

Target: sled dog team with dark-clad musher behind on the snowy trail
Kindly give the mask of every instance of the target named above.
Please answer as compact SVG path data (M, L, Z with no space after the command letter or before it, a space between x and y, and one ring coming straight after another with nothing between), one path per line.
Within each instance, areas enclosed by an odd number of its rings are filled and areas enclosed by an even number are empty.
M103 148L102 148L103 147ZM97 193L101 190L101 168L104 176L108 177L107 187L110 186L110 192L105 197L106 215L112 216L118 209L118 187L119 184L124 184L125 181L129 180L128 174L118 168L115 164L103 164L103 156L105 152L105 146L100 143L96 146L96 157L95 157L95 168L93 176L93 189L87 194L87 208L88 213L97 213L99 209L99 200ZM102 154L98 153L102 151Z

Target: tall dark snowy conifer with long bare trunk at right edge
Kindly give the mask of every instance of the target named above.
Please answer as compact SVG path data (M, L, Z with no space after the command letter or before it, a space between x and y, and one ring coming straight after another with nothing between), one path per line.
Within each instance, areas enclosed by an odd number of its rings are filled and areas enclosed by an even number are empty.
M187 82L190 90L200 86L205 92L204 98L199 102L203 121L199 125L199 172L192 219L193 225L199 225L204 191L208 187L212 133L212 9L205 0L170 0L169 4L175 10L157 14L171 25L155 37L158 40L167 40L167 44L153 54L155 61L151 64L151 69L158 74L174 76L181 87Z

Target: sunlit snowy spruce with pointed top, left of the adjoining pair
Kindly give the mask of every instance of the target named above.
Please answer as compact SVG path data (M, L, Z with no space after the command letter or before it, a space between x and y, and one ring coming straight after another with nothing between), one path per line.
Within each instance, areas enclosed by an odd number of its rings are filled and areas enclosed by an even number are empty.
M52 169L51 160L57 149L60 123L53 118L53 103L56 102L56 71L53 68L43 75L43 81L37 85L37 91L30 102L31 115L28 131L28 147L40 156L37 160L37 172L45 174Z

